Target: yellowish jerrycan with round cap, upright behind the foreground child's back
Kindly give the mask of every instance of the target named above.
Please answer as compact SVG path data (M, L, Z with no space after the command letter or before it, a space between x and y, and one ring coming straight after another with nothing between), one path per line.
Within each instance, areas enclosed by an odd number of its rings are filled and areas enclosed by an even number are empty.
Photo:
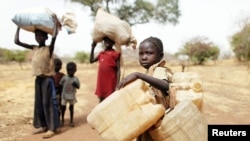
M176 89L176 103L191 100L199 110L203 103L203 88L201 76L194 72L176 72L172 75L170 87Z

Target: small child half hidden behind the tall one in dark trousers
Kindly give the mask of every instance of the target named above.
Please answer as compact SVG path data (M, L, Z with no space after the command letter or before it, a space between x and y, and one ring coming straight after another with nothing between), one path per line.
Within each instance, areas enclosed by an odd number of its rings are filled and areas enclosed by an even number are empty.
M60 115L62 112L62 106L61 106L61 99L62 99L62 85L59 84L61 78L64 76L64 73L60 72L62 69L62 61L59 58L54 59L54 65L55 65L55 74L53 75L54 83L55 83L55 88L56 88L56 97L58 101L58 117L60 120Z

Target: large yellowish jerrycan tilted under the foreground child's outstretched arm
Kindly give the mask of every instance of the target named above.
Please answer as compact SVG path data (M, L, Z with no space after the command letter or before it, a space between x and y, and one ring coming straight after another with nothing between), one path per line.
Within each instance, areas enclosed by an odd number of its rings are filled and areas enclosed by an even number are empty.
M145 92L142 80L115 91L87 116L87 122L104 141L132 141L165 113L154 96Z

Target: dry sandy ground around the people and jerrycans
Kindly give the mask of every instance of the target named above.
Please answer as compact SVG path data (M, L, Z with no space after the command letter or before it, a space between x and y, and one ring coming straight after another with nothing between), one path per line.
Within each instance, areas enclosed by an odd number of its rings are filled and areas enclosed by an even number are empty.
M64 66L63 66L64 67ZM101 141L100 136L86 122L91 109L98 104L94 89L96 65L78 65L76 75L81 89L77 92L75 105L75 127L60 128L51 141ZM180 71L180 66L170 66ZM126 73L142 69L126 67ZM65 72L65 70L62 70ZM250 124L250 71L234 61L223 61L217 65L191 66L188 71L202 76L204 99L202 113L209 124ZM33 83L30 64L23 70L17 64L0 65L0 141L43 140L42 134L31 135L33 116ZM68 110L68 109L67 109Z

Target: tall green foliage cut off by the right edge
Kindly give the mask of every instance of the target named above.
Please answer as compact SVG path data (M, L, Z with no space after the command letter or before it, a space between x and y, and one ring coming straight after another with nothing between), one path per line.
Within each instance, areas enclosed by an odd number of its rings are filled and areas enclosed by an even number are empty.
M250 61L250 22L231 37L231 48L239 61Z

